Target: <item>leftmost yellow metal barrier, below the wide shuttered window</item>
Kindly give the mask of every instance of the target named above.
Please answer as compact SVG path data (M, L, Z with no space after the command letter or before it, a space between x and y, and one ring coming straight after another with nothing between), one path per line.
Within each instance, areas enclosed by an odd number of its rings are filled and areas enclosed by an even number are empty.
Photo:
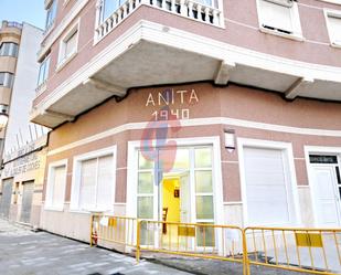
M110 246L120 252L136 248L137 219L94 214L90 220L90 246L94 244Z

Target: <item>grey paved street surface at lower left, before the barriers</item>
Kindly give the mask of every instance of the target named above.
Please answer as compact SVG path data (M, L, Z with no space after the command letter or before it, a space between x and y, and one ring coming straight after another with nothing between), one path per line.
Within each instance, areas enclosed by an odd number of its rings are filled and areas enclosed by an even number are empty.
M148 275L179 274L174 268L111 251L89 247L73 240L34 233L0 220L1 275Z

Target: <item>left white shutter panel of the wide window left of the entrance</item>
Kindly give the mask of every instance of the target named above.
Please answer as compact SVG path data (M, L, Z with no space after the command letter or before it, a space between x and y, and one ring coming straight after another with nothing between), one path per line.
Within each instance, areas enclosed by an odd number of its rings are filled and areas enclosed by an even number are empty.
M96 207L97 159L84 160L81 166L79 208L94 209Z

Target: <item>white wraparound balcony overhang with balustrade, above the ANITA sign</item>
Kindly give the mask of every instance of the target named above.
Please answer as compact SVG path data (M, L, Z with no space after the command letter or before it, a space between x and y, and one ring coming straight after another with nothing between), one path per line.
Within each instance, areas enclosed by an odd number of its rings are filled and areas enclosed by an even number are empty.
M107 42L106 36L116 29L121 31L128 17L151 11L175 21L175 25L180 18L191 20L202 35L184 30L180 23L174 28L140 17ZM124 97L131 87L199 81L217 85L234 82L278 92L288 99L341 101L340 67L278 57L205 36L210 31L225 31L223 18L221 10L195 1L126 1L94 30L95 44L107 43L104 50L77 72L71 72L55 89L39 95L32 121L54 128L109 97Z

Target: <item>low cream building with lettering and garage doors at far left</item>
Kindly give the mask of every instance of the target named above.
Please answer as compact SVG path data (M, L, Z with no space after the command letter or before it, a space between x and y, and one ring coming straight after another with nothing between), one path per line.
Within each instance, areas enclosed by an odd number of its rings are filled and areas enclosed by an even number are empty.
M1 171L0 215L40 226L47 137L6 156Z

